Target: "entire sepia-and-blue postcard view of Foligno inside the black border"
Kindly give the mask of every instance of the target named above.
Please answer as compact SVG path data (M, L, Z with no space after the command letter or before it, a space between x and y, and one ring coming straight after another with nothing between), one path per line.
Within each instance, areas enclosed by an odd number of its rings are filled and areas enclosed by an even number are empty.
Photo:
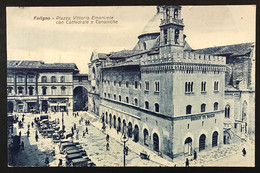
M256 5L9 6L8 167L255 167Z

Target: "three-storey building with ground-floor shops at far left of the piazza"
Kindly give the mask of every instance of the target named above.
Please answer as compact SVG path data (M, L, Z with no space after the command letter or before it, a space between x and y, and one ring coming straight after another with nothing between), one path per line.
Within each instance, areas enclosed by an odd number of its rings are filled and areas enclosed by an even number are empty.
M7 61L8 112L73 110L73 63Z

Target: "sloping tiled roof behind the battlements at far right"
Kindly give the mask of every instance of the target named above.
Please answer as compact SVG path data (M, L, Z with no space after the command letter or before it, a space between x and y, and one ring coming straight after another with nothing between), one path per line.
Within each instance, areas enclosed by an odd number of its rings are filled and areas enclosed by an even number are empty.
M217 46L217 47L209 47L205 49L197 49L193 50L196 53L200 54L211 54L211 55L230 55L230 56L238 56L238 55L246 55L252 50L253 43L241 43L241 44L233 44L227 46Z

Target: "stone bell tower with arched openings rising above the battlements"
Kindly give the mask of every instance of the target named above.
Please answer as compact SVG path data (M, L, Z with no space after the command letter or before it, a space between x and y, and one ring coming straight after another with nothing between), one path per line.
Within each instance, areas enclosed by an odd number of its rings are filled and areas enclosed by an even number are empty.
M163 6L160 25L160 53L180 52L184 48L181 6Z

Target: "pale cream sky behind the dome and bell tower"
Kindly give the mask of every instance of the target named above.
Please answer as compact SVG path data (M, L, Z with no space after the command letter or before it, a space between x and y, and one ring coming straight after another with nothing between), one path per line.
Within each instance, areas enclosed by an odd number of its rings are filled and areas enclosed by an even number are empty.
M7 59L73 62L88 73L93 51L133 49L155 14L156 6L7 7ZM105 16L110 18L103 21L117 23L57 24L73 16L89 22ZM255 16L253 5L182 6L184 34L193 49L255 42Z

